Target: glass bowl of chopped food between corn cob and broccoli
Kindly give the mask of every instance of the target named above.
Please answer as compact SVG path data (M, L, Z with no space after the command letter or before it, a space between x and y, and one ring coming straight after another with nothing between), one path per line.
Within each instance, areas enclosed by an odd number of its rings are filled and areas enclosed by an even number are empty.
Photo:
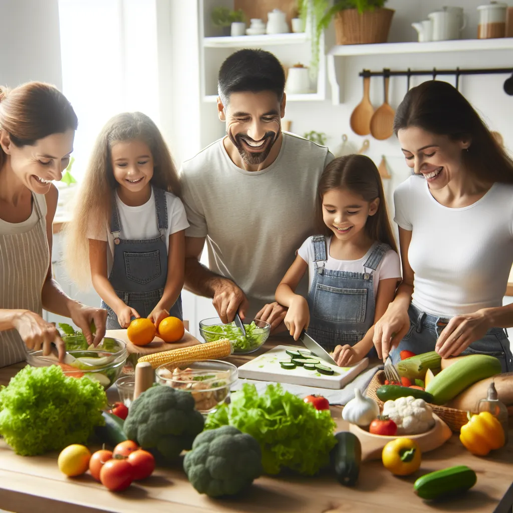
M191 392L196 409L204 415L226 401L237 377L237 367L221 360L173 362L155 369L157 383Z

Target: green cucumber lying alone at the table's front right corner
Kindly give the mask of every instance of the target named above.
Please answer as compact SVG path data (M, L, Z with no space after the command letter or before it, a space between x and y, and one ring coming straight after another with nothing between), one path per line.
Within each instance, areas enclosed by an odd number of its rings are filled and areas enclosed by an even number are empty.
M421 476L415 481L413 490L422 499L438 499L469 490L476 484L477 479L476 472L471 468L458 465Z

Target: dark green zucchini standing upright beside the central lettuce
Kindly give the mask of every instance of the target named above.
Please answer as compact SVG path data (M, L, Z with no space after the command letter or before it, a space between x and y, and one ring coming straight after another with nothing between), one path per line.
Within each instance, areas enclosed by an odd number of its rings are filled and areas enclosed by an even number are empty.
M354 485L360 473L362 446L356 435L349 431L335 433L337 445L331 449L331 466L340 484Z

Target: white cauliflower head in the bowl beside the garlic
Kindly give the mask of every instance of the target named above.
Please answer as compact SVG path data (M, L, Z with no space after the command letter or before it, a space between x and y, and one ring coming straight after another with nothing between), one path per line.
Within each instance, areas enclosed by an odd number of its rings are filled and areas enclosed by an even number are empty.
M419 435L435 425L433 410L423 399L412 396L386 401L383 415L397 424L398 435Z

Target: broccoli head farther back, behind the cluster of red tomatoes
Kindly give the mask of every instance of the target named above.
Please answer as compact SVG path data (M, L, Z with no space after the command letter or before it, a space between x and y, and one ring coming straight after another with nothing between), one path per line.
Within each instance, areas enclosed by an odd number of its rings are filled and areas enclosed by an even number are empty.
M173 460L190 449L203 430L203 415L194 405L190 392L153 386L130 405L125 435L156 456Z

